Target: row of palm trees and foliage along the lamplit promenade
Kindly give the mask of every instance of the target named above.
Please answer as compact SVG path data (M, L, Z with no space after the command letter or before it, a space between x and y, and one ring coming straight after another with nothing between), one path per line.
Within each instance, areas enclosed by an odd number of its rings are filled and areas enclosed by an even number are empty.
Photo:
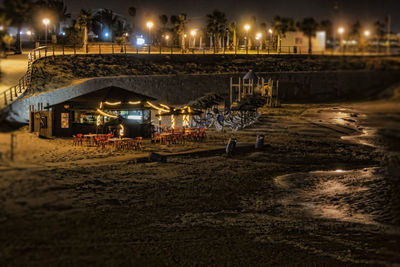
M125 19L117 15L110 9L101 10L85 10L71 18L68 12L66 1L64 0L4 0L4 9L0 10L7 19L10 20L11 26L17 28L16 51L20 52L20 30L28 27L34 33L33 38L36 41L44 39L43 18L49 18L50 25L48 33L58 35L58 38L64 39L64 43L76 44L78 36L82 38L79 42L86 45L90 41L116 41L125 38L135 38L136 34L143 34L147 31L145 22L140 23L140 27L136 25L135 19L139 13L143 14L143 10L134 6L128 7L130 19ZM168 42L173 45L179 45L183 51L186 50L187 43L191 39L190 31L187 25L190 18L185 13L168 16L167 14L146 14L146 17L157 18L153 21L152 40L155 44L166 43L165 38L168 34ZM71 21L69 26L61 29L61 25ZM270 23L257 20L255 16L249 16L246 23L250 29L246 32L243 25L238 25L235 20L228 21L223 11L214 10L205 16L205 24L198 26L196 38L199 38L202 45L213 47L219 50L222 47L227 49L236 49L238 44L243 44L245 36L247 36L248 45L258 44L261 49L267 45L273 47L277 51L281 51L281 40L287 32L301 31L308 38L309 52L312 52L311 39L315 36L317 30L326 32L327 40L331 40L330 44L335 47L334 33L332 22L329 20L316 21L312 17L304 18L298 22L289 17L275 16ZM74 29L71 29L74 28ZM377 45L381 45L386 38L386 24L377 21L373 29L369 29L371 36L369 40L375 41ZM351 45L362 48L366 45L364 31L361 22L356 21L353 25L346 27L344 38L354 40ZM94 33L94 35L89 34ZM66 36L64 36L66 35ZM256 38L256 35L258 37ZM186 36L186 37L185 37ZM256 39L258 40L257 42ZM132 41L132 40L131 40ZM170 45L171 43L169 43Z

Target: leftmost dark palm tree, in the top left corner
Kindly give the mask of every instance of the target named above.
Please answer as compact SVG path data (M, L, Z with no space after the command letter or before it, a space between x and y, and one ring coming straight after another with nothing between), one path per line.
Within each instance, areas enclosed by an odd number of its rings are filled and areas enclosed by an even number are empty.
M4 0L4 13L11 25L17 28L16 53L21 53L21 29L31 19L31 0Z

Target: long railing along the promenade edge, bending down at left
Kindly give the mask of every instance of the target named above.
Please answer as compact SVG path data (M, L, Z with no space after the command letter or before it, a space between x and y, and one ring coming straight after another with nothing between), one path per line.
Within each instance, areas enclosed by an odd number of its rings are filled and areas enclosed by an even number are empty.
M399 53L399 50L391 55ZM301 46L281 46L279 49L268 46L239 45L236 47L188 47L181 49L179 46L168 45L141 45L115 44L115 43L90 43L84 47L53 45L38 47L28 54L28 68L25 75L18 81L17 85L7 89L0 94L0 109L21 98L27 91L32 77L32 65L41 58L54 57L58 55L102 55L102 54L167 54L167 55L308 55L308 50ZM353 48L342 51L312 51L312 55L326 56L379 56L388 55L385 52L375 51L372 48L366 51L358 51Z

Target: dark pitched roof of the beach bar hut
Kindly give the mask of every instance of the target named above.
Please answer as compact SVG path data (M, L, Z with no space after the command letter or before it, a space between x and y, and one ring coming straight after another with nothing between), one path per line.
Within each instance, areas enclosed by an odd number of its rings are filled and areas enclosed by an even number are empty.
M84 94L75 98L71 98L67 101L60 102L47 106L46 108L51 108L57 105L69 105L71 108L77 109L97 109L101 102L118 103L118 105L107 105L105 109L126 109L126 108L138 108L143 107L146 101L152 101L155 98L138 94L127 89L123 89L116 86L109 86L97 91ZM140 105L131 105L129 102L138 102Z

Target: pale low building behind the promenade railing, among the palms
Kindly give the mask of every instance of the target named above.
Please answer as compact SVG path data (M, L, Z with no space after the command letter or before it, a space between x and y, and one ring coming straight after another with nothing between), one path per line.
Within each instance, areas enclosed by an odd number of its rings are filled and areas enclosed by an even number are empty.
M324 52L326 49L326 34L324 31L318 31L311 39L312 51ZM308 37L302 32L287 32L285 37L281 39L281 50L282 52L297 52L307 53L308 52Z

